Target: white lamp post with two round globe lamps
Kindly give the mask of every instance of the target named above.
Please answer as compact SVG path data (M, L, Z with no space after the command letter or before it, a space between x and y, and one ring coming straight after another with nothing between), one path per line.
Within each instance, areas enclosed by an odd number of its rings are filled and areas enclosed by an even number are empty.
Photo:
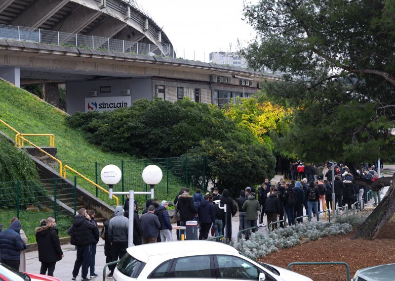
M118 170L117 170L118 169ZM113 172L112 172L113 171ZM114 172L116 171L116 172ZM114 176L112 176L112 173L114 173ZM134 207L131 206L131 204L134 205L134 194L150 194L151 198L154 198L154 188L155 185L158 185L160 181L162 180L162 170L156 166L156 165L149 165L144 168L143 170L143 180L144 182L151 187L150 192L134 192L134 190L129 190L129 192L113 192L113 185L118 184L120 178L121 178L121 171L119 168L115 165L107 165L104 167L100 173L101 179L103 183L109 186L109 195L110 199L112 199L113 194L129 194L129 231L128 231L128 247L133 246L133 212L134 212ZM119 174L118 181L116 182L116 176L115 174ZM114 183L116 182L116 183Z

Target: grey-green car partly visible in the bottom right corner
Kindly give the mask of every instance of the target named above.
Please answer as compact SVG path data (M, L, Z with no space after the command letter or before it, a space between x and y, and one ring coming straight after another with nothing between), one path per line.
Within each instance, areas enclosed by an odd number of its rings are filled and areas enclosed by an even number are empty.
M362 268L356 271L353 281L393 281L395 263Z

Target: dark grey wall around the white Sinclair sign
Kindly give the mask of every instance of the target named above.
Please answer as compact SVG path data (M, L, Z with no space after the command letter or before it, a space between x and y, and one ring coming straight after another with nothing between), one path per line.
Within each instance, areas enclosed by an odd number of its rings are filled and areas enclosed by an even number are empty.
M100 93L100 87L108 86L111 87L111 93ZM124 89L130 89L132 102L143 97L153 99L151 77L67 82L66 112L69 114L76 111L85 112L85 97L91 97L91 91L97 91L98 97L109 97L123 96Z

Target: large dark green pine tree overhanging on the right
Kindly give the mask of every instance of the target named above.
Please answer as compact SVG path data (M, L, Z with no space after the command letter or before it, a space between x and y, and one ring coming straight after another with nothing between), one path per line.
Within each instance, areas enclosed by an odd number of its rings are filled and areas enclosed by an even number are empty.
M284 73L264 88L293 108L279 138L287 149L350 163L394 153L394 1L260 0L244 12L258 34L243 50L249 65ZM387 215L372 213L378 224L360 236L374 237L394 207L380 203L375 212Z

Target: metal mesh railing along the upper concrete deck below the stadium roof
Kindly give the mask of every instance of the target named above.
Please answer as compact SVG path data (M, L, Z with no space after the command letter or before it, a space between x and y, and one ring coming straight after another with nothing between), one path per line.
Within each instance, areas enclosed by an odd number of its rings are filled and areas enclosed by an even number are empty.
M38 42L64 47L79 47L102 51L148 54L176 57L173 47L118 40L99 36L87 36L45 29L31 30L28 27L0 24L0 38Z

